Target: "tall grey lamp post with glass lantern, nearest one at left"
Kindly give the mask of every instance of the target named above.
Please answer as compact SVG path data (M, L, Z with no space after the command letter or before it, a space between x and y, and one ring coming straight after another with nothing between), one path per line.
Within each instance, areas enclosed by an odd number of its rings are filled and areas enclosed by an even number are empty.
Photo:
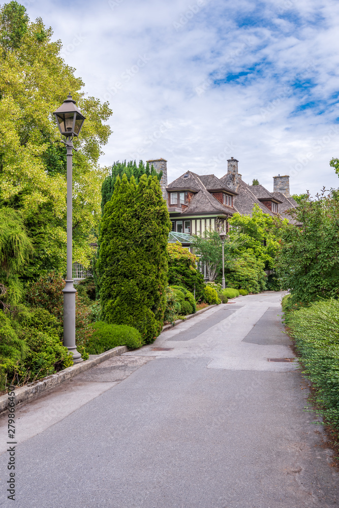
M67 147L67 275L64 293L64 345L73 354L73 363L82 362L80 353L75 344L75 293L72 270L72 183L73 183L73 146L74 136L78 136L85 117L80 113L72 99L71 94L64 103L54 112L61 140Z

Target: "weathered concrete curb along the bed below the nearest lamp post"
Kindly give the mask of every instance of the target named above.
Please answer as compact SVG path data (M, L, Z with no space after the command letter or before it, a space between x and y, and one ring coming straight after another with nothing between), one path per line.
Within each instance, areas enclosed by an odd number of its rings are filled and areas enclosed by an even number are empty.
M28 385L23 386L22 388L18 388L15 390L15 405L16 407L19 404L23 404L25 402L30 402L31 400L38 398L41 395L44 395L45 392L50 390L51 388L56 387L60 383L71 379L72 377L84 372L85 370L90 369L91 367L95 367L101 362L112 358L113 356L119 356L123 353L127 353L128 347L126 346L117 346L113 347L113 349L105 351L101 353L101 355L90 355L91 358L85 360L84 362L78 363L76 365L72 365L72 367L67 367L67 369L60 370L60 372L56 372L56 374L52 374L40 381L35 383L29 383ZM0 397L0 415L6 411L8 408L8 394L2 395Z

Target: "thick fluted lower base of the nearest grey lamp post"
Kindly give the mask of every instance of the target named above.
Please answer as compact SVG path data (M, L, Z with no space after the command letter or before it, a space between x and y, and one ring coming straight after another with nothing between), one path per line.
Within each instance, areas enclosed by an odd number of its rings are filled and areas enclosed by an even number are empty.
M75 293L73 280L66 280L64 293L64 346L73 355L73 363L83 362L75 344Z

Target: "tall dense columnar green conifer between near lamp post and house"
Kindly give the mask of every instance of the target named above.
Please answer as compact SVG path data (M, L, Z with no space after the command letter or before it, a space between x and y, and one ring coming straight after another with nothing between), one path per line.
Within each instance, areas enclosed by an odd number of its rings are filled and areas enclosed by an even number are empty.
M171 229L156 177L116 178L101 223L99 271L103 320L129 325L151 343L166 306L167 240Z

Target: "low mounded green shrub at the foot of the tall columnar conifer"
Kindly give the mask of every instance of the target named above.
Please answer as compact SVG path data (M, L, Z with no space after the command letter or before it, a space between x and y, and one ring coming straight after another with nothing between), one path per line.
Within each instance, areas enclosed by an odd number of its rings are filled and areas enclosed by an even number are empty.
M127 346L130 349L142 346L140 332L131 326L109 325L97 321L90 327L94 333L86 344L89 355L100 355L116 346Z

